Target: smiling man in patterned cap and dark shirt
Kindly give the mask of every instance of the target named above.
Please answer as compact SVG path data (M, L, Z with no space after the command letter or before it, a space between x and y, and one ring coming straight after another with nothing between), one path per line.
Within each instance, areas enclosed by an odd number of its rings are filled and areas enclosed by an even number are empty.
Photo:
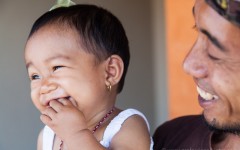
M240 149L240 0L196 0L198 38L183 68L203 115L161 125L154 149Z

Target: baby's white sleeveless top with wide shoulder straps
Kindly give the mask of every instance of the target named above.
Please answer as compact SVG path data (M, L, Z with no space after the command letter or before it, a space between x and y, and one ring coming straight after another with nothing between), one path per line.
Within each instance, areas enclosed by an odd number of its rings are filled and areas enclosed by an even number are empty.
M124 121L133 115L141 116L146 121L148 130L150 131L149 123L148 123L146 117L141 112L139 112L136 109L126 109L126 110L120 112L109 123L106 130L104 131L103 139L100 141L100 144L102 144L102 146L108 148L110 146L112 138L121 129ZM43 129L43 150L52 150L53 149L54 137L55 137L55 133L53 132L53 130L50 129L48 126L45 126ZM152 137L150 137L150 139L151 139L150 150L152 150L153 149Z

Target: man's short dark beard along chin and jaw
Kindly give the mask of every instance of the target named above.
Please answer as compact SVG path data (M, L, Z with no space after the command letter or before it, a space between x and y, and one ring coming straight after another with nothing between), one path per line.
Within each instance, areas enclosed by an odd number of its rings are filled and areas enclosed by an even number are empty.
M211 121L206 120L204 115L202 115L204 122L209 127L209 129L215 133L232 133L240 136L240 120L239 122L229 123L229 124L220 124L216 118Z

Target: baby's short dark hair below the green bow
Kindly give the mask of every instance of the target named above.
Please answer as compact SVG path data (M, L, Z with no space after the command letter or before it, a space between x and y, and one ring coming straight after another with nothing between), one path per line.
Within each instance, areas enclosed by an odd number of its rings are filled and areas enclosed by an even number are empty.
M28 39L48 25L68 27L78 32L81 46L86 52L95 55L98 62L113 54L120 56L124 63L124 71L117 92L122 91L130 52L125 30L112 13L95 5L60 7L39 17L33 24Z

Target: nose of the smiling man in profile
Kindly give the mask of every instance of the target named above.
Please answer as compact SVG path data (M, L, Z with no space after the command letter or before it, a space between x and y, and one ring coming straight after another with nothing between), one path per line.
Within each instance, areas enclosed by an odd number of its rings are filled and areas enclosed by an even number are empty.
M194 78L205 78L208 75L206 56L201 51L192 49L183 62L183 69Z

